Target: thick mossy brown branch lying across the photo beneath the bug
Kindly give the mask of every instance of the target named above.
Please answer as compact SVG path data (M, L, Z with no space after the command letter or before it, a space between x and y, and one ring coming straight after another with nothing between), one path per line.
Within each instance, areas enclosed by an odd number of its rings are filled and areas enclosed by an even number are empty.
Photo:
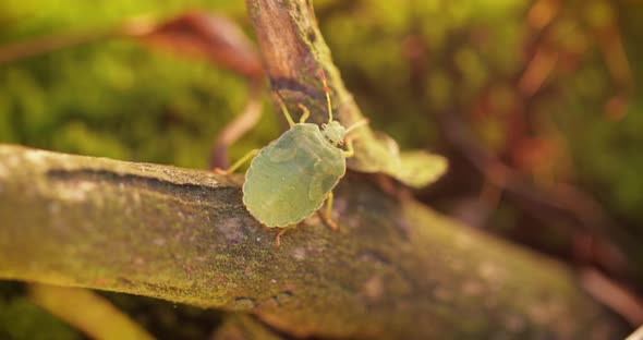
M0 146L0 278L247 311L294 336L605 339L620 321L562 266L361 177L339 233L282 236L240 178Z

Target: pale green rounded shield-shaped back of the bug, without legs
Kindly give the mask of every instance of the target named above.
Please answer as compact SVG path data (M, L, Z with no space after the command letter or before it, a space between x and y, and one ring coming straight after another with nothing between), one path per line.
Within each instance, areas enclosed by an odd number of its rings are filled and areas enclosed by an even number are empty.
M287 227L319 209L344 172L343 151L317 125L296 124L253 159L243 202L265 226Z

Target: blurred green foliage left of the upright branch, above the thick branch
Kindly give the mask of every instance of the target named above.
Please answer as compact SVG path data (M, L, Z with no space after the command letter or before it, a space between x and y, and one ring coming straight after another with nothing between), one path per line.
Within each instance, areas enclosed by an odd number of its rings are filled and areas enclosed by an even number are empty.
M187 5L3 2L0 42L101 28L133 15L171 15ZM245 11L243 3L229 1L210 1L208 7L240 17ZM182 60L135 40L99 40L0 65L0 142L206 168L217 132L243 109L246 97L242 77L206 61ZM266 114L263 124L233 147L232 157L277 133Z

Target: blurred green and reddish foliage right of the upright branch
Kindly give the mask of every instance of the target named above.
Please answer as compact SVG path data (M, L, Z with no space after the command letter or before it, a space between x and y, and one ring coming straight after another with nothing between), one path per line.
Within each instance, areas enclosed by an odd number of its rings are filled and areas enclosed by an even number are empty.
M403 146L451 148L436 118L458 116L476 146L541 187L582 185L643 240L643 97L634 86L643 78L643 3L316 4L333 59L375 127ZM483 192L484 178L472 181L475 170L459 166L450 194ZM523 224L496 211L489 224L499 231ZM556 239L556 228L534 233Z

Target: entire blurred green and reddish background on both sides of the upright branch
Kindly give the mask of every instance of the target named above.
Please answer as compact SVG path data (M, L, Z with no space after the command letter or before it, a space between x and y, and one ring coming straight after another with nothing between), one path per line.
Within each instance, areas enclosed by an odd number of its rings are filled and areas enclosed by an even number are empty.
M372 125L403 148L450 158L450 174L416 192L420 199L560 259L589 262L643 292L642 2L314 4L333 60ZM231 17L253 38L245 1L4 0L0 46L195 9ZM136 39L97 39L0 63L0 143L207 169L213 142L247 97L241 75L205 59ZM282 131L264 97L265 114L232 146L231 159ZM466 157L472 150L449 137L452 126L445 120L453 118L481 149L473 151L509 167L538 192L571 185L611 222L596 233L583 216L570 221L534 212L538 199L524 204L524 197L489 191L488 173ZM579 254L584 236L617 255ZM11 313L29 308L7 296L17 311ZM9 335L5 314L0 336Z

